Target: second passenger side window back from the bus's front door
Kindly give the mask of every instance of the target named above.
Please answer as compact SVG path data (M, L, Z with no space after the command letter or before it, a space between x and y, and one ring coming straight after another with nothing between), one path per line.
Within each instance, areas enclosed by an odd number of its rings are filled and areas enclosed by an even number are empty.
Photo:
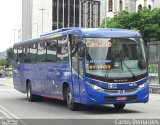
M51 40L47 43L47 62L57 61L57 40Z

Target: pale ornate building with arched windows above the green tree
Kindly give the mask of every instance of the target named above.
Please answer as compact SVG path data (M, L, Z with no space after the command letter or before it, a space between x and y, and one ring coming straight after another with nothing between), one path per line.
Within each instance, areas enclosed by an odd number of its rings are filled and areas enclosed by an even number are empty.
M117 12L127 10L136 12L143 7L154 8L155 0L99 0L101 2L101 21L106 17L113 17Z

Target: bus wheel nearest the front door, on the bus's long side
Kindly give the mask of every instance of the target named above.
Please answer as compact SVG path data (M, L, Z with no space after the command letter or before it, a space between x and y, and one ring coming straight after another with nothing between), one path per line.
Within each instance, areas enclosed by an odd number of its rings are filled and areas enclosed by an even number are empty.
M69 87L67 88L67 93L66 94L67 94L67 96L66 96L67 97L66 98L66 100L67 100L67 107L71 111L76 110L77 104L73 101L73 95L72 95Z

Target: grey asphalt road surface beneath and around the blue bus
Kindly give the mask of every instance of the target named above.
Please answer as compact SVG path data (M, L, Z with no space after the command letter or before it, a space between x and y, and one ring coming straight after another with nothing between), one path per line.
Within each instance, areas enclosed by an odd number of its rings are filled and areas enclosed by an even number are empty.
M112 105L82 106L78 111L69 111L62 101L28 102L25 94L13 88L11 78L1 78L1 112L17 119L160 119L160 95L150 94L147 104L128 104L122 111Z

